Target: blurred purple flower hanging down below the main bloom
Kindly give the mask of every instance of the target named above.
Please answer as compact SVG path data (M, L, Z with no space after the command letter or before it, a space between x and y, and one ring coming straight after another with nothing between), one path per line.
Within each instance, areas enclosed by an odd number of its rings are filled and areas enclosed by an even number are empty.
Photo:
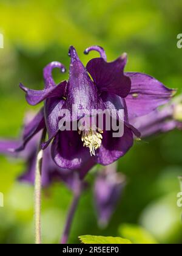
M121 198L124 185L125 178L123 174L116 172L115 163L108 165L98 174L98 177L96 177L94 202L99 226L107 226Z

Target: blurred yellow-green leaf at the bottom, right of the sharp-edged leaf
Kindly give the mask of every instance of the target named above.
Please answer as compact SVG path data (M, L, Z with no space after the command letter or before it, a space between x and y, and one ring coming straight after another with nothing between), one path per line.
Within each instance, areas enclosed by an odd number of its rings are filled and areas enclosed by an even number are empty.
M155 238L147 230L137 225L123 224L120 226L119 232L133 244L157 244Z

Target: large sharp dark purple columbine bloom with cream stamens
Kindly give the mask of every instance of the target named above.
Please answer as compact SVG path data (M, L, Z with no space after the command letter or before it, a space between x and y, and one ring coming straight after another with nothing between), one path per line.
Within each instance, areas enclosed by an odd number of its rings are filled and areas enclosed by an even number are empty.
M174 92L146 74L124 73L126 54L114 62L107 63L103 48L93 46L87 48L85 53L91 50L98 51L101 57L90 60L84 68L75 48L70 47L68 81L56 86L52 79L52 69L60 68L62 72L66 69L61 63L53 62L44 69L44 90L30 90L20 85L29 104L36 105L44 101L44 112L41 110L30 125L29 132L24 136L24 145L46 126L49 140L42 144L42 148L45 149L53 140L52 157L61 168L80 168L90 161L90 154L92 161L101 165L109 165L122 157L133 145L133 133L140 137L138 130L129 124L129 119L145 115L159 105L165 104ZM73 104L79 110L84 109L89 113L93 109L123 109L123 136L115 138L112 136L112 130L100 130L99 127L96 127L96 130L87 127L87 130L60 131L59 113L63 108L72 112ZM77 116L76 119L72 116L71 121L75 122L80 118L81 116Z

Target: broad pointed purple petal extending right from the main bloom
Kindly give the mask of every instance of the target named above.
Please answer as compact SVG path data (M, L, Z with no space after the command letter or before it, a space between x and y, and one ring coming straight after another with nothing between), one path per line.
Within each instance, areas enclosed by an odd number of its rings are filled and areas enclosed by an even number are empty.
M129 119L147 115L160 105L166 104L174 90L165 87L157 79L141 73L125 73L132 81L126 104Z

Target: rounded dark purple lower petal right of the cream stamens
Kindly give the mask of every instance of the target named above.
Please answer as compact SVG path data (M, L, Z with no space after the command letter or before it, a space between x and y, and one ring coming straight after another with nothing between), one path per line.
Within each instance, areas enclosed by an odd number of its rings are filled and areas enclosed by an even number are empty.
M101 147L96 152L96 162L101 165L110 165L111 163L123 157L133 146L133 133L124 125L123 137L112 137L112 131L104 131Z

